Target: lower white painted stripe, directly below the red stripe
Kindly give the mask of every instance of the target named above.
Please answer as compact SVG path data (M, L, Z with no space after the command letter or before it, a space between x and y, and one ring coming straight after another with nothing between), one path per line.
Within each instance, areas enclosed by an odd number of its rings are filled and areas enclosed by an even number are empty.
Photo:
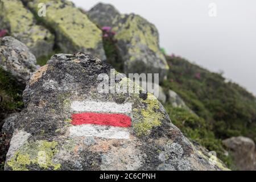
M69 128L70 137L99 137L109 139L129 139L130 134L125 127L102 125L76 125Z

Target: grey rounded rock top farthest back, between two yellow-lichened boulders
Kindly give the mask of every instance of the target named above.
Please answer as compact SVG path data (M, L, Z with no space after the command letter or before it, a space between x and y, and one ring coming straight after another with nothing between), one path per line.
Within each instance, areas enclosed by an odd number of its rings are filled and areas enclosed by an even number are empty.
M88 11L87 15L92 22L100 27L112 27L113 20L121 14L112 5L98 3Z

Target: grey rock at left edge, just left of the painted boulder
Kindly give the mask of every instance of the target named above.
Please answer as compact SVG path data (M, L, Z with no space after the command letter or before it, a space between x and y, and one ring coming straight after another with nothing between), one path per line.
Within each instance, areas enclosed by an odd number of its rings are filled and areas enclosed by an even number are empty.
M22 84L39 68L27 46L11 36L0 39L0 67L11 72Z

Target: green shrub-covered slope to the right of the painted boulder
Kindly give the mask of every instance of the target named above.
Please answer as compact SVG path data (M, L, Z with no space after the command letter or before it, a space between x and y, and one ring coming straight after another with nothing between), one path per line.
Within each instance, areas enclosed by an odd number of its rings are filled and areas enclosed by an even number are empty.
M241 86L225 81L181 57L167 56L171 71L163 82L174 90L199 117L166 105L170 118L188 138L214 150L228 166L221 139L243 135L256 141L256 101Z

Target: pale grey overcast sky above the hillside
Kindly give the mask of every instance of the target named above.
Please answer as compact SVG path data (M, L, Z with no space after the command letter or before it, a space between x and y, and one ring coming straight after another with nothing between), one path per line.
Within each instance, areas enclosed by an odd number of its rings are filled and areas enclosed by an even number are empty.
M95 0L72 0L89 10ZM160 46L225 77L256 95L255 0L101 0L120 13L135 13L154 23ZM216 16L209 16L216 5ZM213 12L214 11L210 11ZM213 15L212 14L212 15Z

